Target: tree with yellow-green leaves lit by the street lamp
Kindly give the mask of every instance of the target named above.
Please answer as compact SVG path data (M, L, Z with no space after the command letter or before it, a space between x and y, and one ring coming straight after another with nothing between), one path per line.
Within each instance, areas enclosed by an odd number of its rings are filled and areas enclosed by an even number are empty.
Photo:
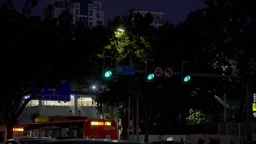
M124 34L125 35L125 34ZM136 68L142 69L146 61L146 51L149 50L150 46L148 42L143 37L140 37L138 40L136 38L130 39L128 36L122 36L119 38L113 39L110 42L110 45L107 45L103 51L103 54L98 56L102 59L104 55L111 56L113 58L113 65L135 65ZM131 79L132 77L132 79ZM128 106L128 95L134 95L134 88L136 87L136 80L138 76L126 76L126 75L114 75L113 82L106 81L109 91L107 97L110 101L110 104L118 106L122 105L121 109L125 110ZM104 99L102 101L107 101ZM120 112L120 114L123 113ZM127 111L124 111L124 114ZM127 115L127 114L125 114ZM125 118L124 116L120 116ZM126 120L122 119L122 123ZM128 126L123 124L122 126ZM123 127L123 132L127 130L128 127ZM127 134L123 135L124 137Z

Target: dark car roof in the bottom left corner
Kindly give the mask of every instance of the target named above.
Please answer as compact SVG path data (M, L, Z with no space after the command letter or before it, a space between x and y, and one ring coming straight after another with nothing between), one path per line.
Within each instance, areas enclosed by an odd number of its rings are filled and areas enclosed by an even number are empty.
M2 144L39 144L48 141L54 141L55 138L49 137L20 137L11 138L3 142Z

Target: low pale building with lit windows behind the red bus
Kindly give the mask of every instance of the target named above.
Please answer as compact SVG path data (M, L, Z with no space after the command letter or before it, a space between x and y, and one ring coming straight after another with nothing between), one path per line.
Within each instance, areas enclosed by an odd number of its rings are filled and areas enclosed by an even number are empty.
M27 97L24 97L24 100ZM71 95L70 101L30 100L19 117L18 126L33 122L37 116L81 116L99 118L92 95ZM99 117L98 117L99 116Z

